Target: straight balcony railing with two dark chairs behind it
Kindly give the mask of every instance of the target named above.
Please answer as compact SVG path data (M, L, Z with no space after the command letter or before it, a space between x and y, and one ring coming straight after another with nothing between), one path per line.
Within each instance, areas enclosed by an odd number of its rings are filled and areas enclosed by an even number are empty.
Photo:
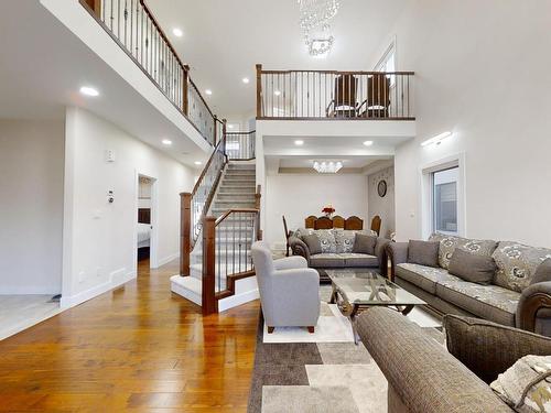
M257 65L257 119L414 120L413 75Z

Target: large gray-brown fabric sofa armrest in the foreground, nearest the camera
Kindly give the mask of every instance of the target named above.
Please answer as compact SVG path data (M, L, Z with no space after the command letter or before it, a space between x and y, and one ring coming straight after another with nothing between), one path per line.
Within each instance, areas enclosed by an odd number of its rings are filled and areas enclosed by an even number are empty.
M361 341L409 412L509 412L491 389L417 324L389 308L357 319Z

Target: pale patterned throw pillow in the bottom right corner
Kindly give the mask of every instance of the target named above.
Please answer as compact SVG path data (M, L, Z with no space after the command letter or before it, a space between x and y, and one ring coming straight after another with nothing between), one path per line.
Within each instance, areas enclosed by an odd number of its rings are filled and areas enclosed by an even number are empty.
M490 388L516 412L551 412L551 356L525 356Z

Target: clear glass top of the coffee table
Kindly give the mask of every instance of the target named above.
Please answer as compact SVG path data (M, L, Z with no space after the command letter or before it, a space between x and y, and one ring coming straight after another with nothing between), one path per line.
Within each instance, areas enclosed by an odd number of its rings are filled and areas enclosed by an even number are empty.
M367 269L325 270L334 287L350 304L423 305L421 298Z

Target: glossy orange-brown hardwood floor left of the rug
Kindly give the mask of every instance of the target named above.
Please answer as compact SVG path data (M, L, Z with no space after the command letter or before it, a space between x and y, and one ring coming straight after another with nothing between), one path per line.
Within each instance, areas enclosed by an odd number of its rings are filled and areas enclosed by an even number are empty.
M177 263L0 341L0 411L245 412L259 303L208 317Z

